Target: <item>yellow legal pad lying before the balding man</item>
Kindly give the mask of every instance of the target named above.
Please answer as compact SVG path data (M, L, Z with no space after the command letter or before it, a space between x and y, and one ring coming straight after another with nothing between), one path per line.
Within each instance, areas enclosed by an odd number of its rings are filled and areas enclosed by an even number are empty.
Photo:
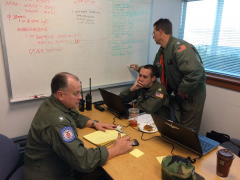
M124 137L124 136L126 136L126 134L121 133L121 137ZM118 131L116 130L106 130L105 132L95 131L93 133L83 136L84 139L88 140L89 142L97 146L103 146L105 144L108 144L116 140L117 137L118 137Z

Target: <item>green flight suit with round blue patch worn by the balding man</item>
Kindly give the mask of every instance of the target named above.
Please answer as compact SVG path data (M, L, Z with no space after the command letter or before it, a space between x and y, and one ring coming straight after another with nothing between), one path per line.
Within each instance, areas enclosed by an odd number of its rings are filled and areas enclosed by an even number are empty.
M54 96L46 99L29 130L24 180L70 180L73 170L85 173L104 165L107 148L87 149L78 138L76 128L83 128L88 120Z

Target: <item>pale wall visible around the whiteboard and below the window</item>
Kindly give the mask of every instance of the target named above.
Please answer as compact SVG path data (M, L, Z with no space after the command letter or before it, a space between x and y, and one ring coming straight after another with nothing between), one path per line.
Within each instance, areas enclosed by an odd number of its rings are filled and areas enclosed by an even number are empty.
M173 23L173 34L177 36L180 19L181 0L153 0L151 23L159 18L169 18ZM152 25L151 25L152 28ZM152 32L152 29L151 29ZM149 62L152 63L158 50L155 42L150 40ZM24 135L28 132L32 118L42 100L9 104L2 45L0 45L0 133L9 137ZM24 82L23 82L24 85ZM112 89L118 93L121 88ZM93 101L100 100L98 92L93 93ZM225 132L240 138L240 96L239 92L214 86L207 86L207 100L200 132L205 134L211 129Z

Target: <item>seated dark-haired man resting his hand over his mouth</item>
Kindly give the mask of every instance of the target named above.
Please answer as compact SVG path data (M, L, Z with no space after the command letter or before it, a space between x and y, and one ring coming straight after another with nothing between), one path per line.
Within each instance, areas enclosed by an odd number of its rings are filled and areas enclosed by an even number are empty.
M157 69L153 65L141 68L132 87L122 91L120 97L124 103L136 100L135 107L146 112L156 113L169 118L169 96L165 87L156 81Z

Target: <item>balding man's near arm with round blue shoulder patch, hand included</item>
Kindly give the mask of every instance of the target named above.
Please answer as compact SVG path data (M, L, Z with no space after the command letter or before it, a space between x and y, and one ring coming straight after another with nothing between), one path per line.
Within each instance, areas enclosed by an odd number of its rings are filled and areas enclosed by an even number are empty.
M103 166L108 159L124 154L132 148L130 137L121 138L119 134L115 144L110 148L99 146L87 149L70 124L65 123L49 127L43 133L46 142L58 156L80 172L90 172L97 166Z

